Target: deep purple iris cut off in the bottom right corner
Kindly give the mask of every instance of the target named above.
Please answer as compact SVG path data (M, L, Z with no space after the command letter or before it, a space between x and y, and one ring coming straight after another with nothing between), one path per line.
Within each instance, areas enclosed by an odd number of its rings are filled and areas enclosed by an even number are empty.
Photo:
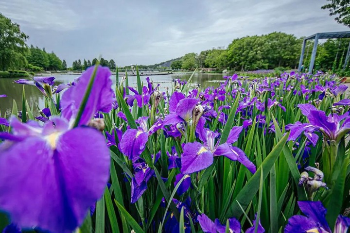
M345 233L350 226L350 218L339 215L335 226L330 229L327 220L327 210L323 207L321 201L298 201L298 206L306 216L295 215L288 219L288 224L284 233Z

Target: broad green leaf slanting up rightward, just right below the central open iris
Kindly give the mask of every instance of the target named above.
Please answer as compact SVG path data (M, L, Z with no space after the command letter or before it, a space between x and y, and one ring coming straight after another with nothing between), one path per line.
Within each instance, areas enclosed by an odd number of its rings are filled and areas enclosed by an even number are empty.
M226 216L239 218L242 215L241 208L237 204L237 201L241 203L242 207L245 209L249 202L255 197L255 194L259 190L261 170L264 170L263 180L269 174L272 166L275 164L280 152L288 139L289 133L286 133L280 142L271 150L267 157L262 162L262 165L254 173L254 175L248 180L242 190L238 193L236 199L232 202L229 209L227 210ZM237 200L237 201L236 201Z

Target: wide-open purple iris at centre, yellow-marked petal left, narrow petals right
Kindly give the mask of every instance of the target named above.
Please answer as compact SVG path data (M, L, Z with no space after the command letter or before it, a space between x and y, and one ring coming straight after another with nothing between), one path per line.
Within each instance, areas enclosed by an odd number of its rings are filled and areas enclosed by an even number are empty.
M205 137L200 135L202 143L189 142L183 146L183 153L181 154L181 172L183 174L191 174L196 171L203 170L213 163L215 156L226 156L230 160L239 161L254 173L256 171L255 165L246 157L245 152L238 147L233 147L233 144L238 140L239 134L242 132L242 126L235 126L230 131L227 142L220 144L218 140L215 144L215 138L218 133L206 131Z

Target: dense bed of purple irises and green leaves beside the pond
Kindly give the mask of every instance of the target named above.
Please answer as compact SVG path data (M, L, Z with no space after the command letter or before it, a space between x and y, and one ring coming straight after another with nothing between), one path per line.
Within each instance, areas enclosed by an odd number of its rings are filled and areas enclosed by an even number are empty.
M337 77L233 75L206 89L116 77L94 66L58 86L16 81L22 102L0 117L0 230L348 231L350 100ZM45 96L40 116L26 85Z

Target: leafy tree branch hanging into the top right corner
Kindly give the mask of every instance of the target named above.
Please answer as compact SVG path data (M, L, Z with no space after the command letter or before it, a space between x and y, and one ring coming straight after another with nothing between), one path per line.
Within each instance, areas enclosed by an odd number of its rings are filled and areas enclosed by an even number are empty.
M322 6L328 9L330 16L335 16L335 21L350 27L350 0L327 0L329 4Z

